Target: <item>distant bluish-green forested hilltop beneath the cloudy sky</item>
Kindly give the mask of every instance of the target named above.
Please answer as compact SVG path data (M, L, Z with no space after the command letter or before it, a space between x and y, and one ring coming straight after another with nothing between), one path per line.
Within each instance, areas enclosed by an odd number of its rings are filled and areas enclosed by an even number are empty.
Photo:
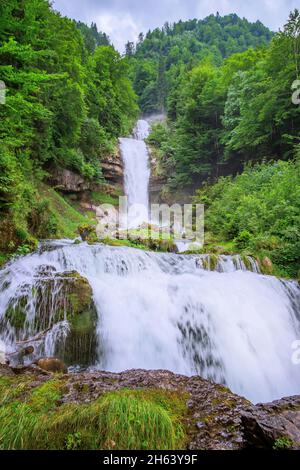
M203 59L220 65L223 58L249 47L267 44L272 33L259 21L249 23L237 15L210 15L204 20L166 23L162 29L140 35L128 43L135 91L142 111L161 111L176 100L183 70Z

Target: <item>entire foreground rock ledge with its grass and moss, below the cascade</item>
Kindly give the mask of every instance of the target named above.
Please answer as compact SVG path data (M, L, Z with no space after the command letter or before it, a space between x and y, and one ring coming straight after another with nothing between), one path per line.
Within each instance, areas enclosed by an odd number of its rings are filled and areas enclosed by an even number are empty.
M0 449L299 448L300 397L254 406L168 371L0 368Z

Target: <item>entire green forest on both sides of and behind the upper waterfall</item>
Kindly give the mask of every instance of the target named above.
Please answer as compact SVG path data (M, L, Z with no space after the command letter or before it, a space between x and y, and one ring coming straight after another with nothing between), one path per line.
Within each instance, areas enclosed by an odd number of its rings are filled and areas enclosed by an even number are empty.
M124 56L95 23L62 17L46 0L8 0L0 10L2 253L57 236L58 217L41 191L54 169L103 181L101 161L118 137L131 132L139 113L163 112L167 119L153 126L148 143L164 192L182 189L207 201L209 234L243 239L254 253L259 246L274 251L283 272L297 275L300 108L291 102L300 67L297 10L277 34L236 14L166 23L128 42ZM276 179L281 171L292 172L293 185ZM252 187L258 175L259 195ZM270 184L277 186L267 200ZM232 212L239 191L242 207ZM273 221L270 206L286 228ZM257 223L241 215L248 210ZM230 222L222 222L223 212Z

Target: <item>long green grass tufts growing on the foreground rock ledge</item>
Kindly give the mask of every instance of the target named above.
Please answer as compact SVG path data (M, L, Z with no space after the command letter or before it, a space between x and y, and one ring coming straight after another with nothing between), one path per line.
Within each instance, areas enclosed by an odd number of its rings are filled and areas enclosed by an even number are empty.
M60 404L64 380L33 391L28 380L0 379L2 450L184 448L186 394L122 389L88 404Z

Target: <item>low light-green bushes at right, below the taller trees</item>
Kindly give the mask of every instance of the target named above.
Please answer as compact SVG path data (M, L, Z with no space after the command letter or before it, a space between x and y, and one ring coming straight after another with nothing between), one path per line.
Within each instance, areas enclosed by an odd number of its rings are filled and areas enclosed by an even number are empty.
M270 256L290 277L300 273L300 159L248 167L198 190L206 230L238 249Z

